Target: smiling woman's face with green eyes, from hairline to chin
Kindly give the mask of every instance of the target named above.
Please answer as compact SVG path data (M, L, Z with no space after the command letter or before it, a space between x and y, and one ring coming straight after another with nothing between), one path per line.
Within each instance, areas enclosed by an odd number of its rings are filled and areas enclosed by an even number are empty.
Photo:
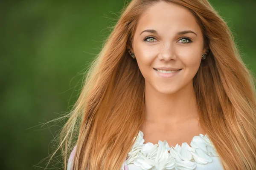
M133 48L128 48L136 56L146 86L171 94L192 84L206 52L203 46L203 34L193 14L185 7L161 1L140 17ZM181 70L161 71L177 69Z

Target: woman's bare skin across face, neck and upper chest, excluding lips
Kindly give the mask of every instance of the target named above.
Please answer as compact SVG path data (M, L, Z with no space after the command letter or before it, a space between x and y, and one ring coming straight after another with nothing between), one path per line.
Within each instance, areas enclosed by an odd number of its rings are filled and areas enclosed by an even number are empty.
M146 29L157 33L143 32ZM183 32L186 30L194 33ZM205 135L198 124L192 79L207 48L204 49L203 33L193 14L176 4L154 4L140 18L132 47L128 46L145 78L145 122L140 128L145 143L166 140L169 146L175 146L190 144L199 133ZM165 78L154 69L157 67L182 70Z

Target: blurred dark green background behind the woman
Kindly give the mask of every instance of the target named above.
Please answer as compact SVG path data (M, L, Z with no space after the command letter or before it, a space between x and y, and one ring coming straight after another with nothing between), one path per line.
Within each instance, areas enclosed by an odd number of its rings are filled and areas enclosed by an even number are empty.
M62 126L45 124L78 98L83 72L125 0L0 2L1 165L42 170ZM228 21L243 60L256 72L256 0L210 0ZM40 123L41 122L41 123ZM55 158L52 169L61 159Z

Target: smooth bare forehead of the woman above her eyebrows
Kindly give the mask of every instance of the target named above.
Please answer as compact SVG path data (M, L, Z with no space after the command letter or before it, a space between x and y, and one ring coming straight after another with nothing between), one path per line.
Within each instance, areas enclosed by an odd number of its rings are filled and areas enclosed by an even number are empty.
M198 33L201 31L195 16L189 9L164 1L149 7L141 15L136 32L141 32L144 29L156 29L165 34L183 29L191 29Z

